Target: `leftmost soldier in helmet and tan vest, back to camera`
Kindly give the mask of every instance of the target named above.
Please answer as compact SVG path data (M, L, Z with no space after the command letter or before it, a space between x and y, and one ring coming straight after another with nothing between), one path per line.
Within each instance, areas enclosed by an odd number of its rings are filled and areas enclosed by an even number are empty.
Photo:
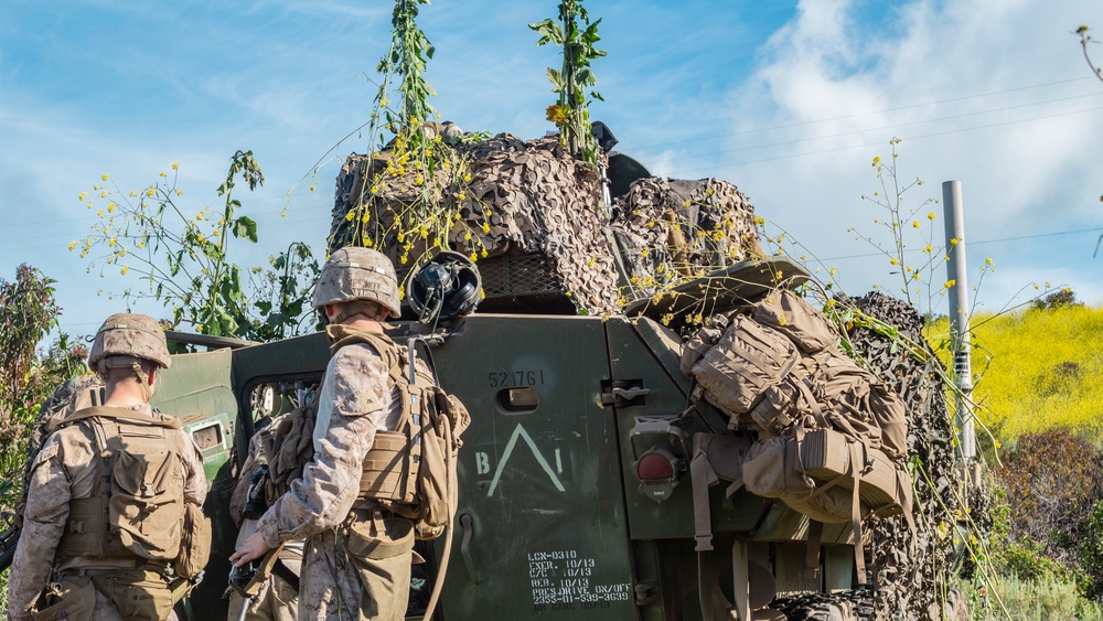
M149 405L170 364L150 317L113 314L96 332L88 366L106 398L52 426L31 465L9 619L173 618L211 539L196 522L203 457Z

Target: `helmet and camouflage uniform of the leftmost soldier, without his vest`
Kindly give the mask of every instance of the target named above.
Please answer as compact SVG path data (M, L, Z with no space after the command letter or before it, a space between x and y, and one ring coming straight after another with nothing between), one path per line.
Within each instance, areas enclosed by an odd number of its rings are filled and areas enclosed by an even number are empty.
M183 480L174 484L180 486L183 503L202 505L207 483L199 448L179 429L179 422L149 405L156 389L157 368L165 368L169 364L164 334L157 322L150 317L127 313L114 314L104 322L88 358L88 366L106 379L105 407L133 415L125 420L132 427L141 427L142 419L148 419L151 430L164 433L168 446L182 447L178 456ZM126 373L128 366L133 368L132 375ZM79 411L86 410L74 414ZM84 522L71 523L71 507L93 497L101 474L96 426L87 424L88 420L77 420L53 431L31 464L23 529L9 574L9 619L33 619L32 614L49 603L40 601L47 583L64 585L67 589L75 583L87 586L89 581L95 587L95 601L94 606L88 602L90 611L83 612L90 612L92 619L137 618L136 610L120 610L119 599L105 592L111 590L109 583L118 592L129 588L130 597L143 599L143 612L156 609L162 619L172 615L170 578L165 575L169 563L150 561L126 553L73 556L65 552L66 537L72 537L72 533L84 525ZM162 426L158 426L159 422ZM65 592L65 600L69 601L68 596L74 591ZM89 600L92 597L88 595ZM60 614L66 615L66 612ZM76 610L67 615L79 618Z

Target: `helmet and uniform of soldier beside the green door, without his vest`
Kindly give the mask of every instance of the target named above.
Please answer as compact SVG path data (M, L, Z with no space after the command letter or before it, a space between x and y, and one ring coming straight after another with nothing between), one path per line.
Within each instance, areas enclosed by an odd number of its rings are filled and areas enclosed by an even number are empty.
M381 351L365 342L346 344L357 333L382 338L383 322L400 312L394 266L375 250L341 248L322 268L312 303L323 309L326 333L338 343L318 400L314 457L231 563L243 566L304 537L300 619L401 620L414 522L384 511L361 491L372 486L362 477L376 431L396 428L401 398Z

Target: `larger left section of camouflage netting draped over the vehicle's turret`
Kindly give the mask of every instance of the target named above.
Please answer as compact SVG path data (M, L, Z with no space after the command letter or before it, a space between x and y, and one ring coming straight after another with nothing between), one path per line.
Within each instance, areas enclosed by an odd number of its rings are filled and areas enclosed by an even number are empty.
M576 308L597 313L617 309L617 270L602 235L608 218L597 175L566 154L554 138L524 141L500 133L454 149L467 162L470 179L447 181L446 186L457 190L439 195L446 210L454 207L460 215L448 231L450 249L474 255L476 260L539 253L549 259L559 287L570 293ZM365 180L385 170L387 157L386 152L374 160L352 156L342 169L331 251L351 243L345 214L363 195ZM384 172L386 192L370 203L371 221L383 234L379 249L397 265L403 265L399 231L417 226L411 222L394 226L394 214L413 204L422 191L413 181L415 174L396 179ZM428 258L430 242L418 239L409 255Z

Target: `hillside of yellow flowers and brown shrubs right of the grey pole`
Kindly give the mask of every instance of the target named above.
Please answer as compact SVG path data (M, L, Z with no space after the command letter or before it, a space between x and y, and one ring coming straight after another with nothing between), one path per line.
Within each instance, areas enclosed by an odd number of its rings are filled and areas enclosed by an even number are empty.
M1103 619L1103 308L1074 299L972 320L995 569L974 619ZM947 332L945 318L928 330L943 362Z

